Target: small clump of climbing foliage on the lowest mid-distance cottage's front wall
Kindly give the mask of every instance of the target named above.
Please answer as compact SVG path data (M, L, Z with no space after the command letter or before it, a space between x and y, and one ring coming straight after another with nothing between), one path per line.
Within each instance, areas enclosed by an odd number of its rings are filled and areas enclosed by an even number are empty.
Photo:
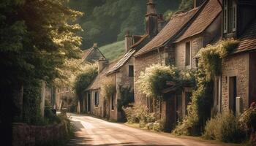
M116 93L116 84L113 82L113 80L105 80L105 82L102 85L102 95L105 98L110 98L113 96L113 94Z

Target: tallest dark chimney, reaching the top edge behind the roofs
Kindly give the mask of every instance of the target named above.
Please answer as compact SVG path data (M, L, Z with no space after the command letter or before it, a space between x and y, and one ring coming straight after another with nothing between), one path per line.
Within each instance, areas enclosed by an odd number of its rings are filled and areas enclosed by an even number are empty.
M157 10L156 4L154 4L153 0L148 0L147 2L147 12L146 12L146 34L149 35L150 38L153 38L157 35Z

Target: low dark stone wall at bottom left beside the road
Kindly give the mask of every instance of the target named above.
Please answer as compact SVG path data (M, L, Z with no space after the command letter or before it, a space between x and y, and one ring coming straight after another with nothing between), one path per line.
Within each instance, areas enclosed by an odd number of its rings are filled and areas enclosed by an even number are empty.
M55 144L67 137L65 123L51 126L29 126L26 123L13 123L12 145L34 146Z

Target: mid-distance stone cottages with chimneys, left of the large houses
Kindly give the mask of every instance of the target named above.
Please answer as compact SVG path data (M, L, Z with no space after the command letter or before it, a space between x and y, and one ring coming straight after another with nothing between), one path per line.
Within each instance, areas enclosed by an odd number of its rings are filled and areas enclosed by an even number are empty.
M84 112L111 120L123 120L124 115L118 110L118 104L122 98L121 88L130 88L130 92L134 92L134 55L165 26L165 20L162 15L157 15L153 1L148 1L146 5L146 34L139 36L128 32L124 46L126 53L118 61L108 63L105 58L99 59L99 74L86 89L84 102L87 109ZM116 88L111 97L104 95L106 82Z

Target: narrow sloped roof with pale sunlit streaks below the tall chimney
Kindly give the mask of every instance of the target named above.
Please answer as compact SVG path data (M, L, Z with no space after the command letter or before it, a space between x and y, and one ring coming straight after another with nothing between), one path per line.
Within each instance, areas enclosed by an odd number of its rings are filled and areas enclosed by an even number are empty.
M148 35L141 36L140 39L130 47L131 49L127 53L125 53L124 56L113 67L108 70L107 74L112 74L113 72L116 72L118 69L124 66L124 64L129 61L129 58L131 58L132 55L134 55L135 52L140 49L139 45L143 42L146 42L147 37Z

